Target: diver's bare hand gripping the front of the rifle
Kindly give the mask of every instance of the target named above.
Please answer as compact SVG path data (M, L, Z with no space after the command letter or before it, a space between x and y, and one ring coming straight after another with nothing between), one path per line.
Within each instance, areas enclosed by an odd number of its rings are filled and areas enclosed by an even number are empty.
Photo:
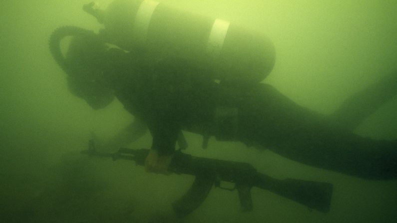
M150 150L145 160L146 172L170 175L168 167L171 163L172 155L159 156L156 150Z

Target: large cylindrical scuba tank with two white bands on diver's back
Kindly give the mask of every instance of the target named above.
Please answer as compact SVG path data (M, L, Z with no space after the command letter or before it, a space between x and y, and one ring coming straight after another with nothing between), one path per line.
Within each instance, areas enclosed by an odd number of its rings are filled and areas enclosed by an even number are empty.
M105 41L147 56L208 70L224 82L260 82L275 63L273 43L219 18L178 10L155 0L114 0L106 10L84 5L104 29ZM174 64L174 65L175 65Z

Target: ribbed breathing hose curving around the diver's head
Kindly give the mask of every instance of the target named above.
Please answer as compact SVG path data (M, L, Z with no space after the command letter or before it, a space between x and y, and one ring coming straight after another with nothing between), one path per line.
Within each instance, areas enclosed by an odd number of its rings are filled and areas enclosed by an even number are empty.
M61 26L55 29L49 37L49 50L56 63L61 69L68 73L70 67L68 66L64 55L60 49L60 42L66 36L81 36L88 38L98 38L97 35L91 31L77 26Z

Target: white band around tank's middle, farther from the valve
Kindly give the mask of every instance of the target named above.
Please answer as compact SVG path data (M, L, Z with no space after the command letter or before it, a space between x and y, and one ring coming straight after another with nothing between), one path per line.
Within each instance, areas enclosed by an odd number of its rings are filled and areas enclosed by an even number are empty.
M215 19L215 22L212 25L207 43L207 52L214 58L218 58L221 53L229 25L229 21L219 18Z

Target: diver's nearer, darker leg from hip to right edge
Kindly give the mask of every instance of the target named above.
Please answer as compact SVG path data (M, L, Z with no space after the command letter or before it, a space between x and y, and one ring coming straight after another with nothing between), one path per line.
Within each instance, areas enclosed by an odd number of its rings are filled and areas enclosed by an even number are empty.
M396 179L397 141L372 140L334 126L269 85L240 104L239 135L286 158L368 179Z

